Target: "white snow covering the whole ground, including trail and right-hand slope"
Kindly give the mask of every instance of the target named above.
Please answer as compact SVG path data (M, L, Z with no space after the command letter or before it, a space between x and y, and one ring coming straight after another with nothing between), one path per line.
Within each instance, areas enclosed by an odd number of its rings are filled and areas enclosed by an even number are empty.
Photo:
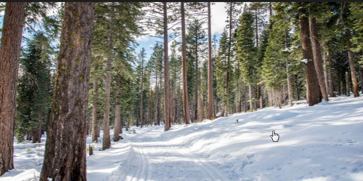
M108 150L91 143L87 180L363 180L362 96L135 130ZM37 180L43 150L15 149L0 180Z

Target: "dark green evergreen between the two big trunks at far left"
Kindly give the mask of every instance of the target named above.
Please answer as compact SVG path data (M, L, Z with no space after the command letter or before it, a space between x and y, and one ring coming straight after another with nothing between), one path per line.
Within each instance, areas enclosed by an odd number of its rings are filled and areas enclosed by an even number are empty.
M18 80L15 133L18 142L24 141L25 134L28 134L36 143L40 142L42 126L48 122L53 49L47 37L37 34L28 43L27 51L27 56L20 59L22 75Z

